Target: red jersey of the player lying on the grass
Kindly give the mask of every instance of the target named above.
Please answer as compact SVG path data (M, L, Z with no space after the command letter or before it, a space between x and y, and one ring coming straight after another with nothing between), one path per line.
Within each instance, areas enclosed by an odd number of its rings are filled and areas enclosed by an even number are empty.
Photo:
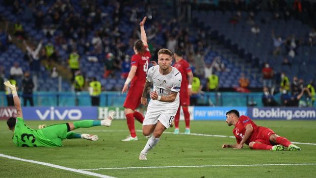
M245 135L246 132L246 125L251 124L253 128L252 135L249 137L249 139L245 142L247 145L252 140L255 140L256 138L256 131L260 126L257 126L249 117L247 116L240 116L238 122L235 125L235 128L232 130L234 136L236 137L237 143L240 143Z

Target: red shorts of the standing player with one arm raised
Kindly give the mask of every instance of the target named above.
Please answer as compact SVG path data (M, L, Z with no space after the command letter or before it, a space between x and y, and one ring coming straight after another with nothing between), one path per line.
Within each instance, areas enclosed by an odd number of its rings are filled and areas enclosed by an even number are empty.
M123 107L135 110L141 104L145 83L133 83L130 85Z

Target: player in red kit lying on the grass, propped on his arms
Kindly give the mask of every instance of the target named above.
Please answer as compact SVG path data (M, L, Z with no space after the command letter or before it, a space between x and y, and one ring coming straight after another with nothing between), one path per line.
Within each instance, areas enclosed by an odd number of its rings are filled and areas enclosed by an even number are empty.
M292 144L286 138L276 135L271 129L256 125L249 117L240 116L237 110L230 110L226 113L227 124L234 125L233 134L236 137L236 144L223 144L223 148L241 149L244 143L251 149L266 149L281 151L301 150L300 147Z

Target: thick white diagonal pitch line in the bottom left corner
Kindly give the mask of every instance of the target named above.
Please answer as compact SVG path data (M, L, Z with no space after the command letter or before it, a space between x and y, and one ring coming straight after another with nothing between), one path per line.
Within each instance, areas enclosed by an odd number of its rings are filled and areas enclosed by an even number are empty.
M64 166L59 166L59 165L56 165L56 164L44 163L44 162L39 162L39 161L34 161L34 160L27 160L27 159L12 157L12 156L3 155L3 154L0 154L0 157L12 159L12 160L29 162L29 163L40 164L40 165L44 165L44 166L48 166L48 167L54 167L54 168L57 168L57 169L63 169L63 170L68 170L68 171L72 171L72 172L78 172L78 173L82 173L82 174L86 174L86 175L92 175L92 176L96 176L96 177L113 178L113 177L108 176L108 175L102 175L102 174L89 172L89 171L85 171L85 170L73 169L73 168L68 168L68 167L64 167Z

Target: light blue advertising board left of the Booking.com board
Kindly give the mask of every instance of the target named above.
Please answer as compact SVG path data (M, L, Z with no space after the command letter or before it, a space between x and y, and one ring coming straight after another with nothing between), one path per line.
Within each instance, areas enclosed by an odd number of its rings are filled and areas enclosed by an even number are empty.
M240 115L247 115L247 107L194 107L194 120L226 120L226 112L238 110Z

